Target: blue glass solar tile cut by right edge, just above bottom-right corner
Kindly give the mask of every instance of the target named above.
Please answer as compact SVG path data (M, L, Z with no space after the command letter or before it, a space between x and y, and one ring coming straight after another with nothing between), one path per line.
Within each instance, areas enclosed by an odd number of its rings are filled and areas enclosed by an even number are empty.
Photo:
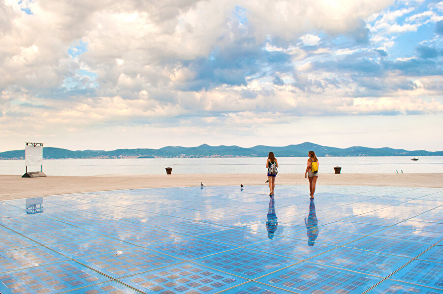
M443 290L443 264L413 260L389 277L392 280Z

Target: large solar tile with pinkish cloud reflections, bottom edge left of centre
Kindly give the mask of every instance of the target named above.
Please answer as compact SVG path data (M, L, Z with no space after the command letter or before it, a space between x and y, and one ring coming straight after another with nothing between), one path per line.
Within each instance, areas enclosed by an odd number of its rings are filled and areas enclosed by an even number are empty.
M218 293L248 280L202 265L172 265L120 279L144 293Z

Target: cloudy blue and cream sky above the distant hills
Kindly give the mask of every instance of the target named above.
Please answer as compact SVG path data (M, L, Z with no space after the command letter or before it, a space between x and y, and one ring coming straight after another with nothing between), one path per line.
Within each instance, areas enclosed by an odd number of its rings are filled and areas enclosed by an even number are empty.
M0 151L443 150L443 1L0 0Z

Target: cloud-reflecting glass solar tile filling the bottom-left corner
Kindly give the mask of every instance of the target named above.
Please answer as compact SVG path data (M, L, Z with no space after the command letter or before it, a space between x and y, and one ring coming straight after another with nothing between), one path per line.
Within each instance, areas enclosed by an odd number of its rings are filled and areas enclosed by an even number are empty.
M56 294L109 280L104 275L74 261L0 274L2 294Z

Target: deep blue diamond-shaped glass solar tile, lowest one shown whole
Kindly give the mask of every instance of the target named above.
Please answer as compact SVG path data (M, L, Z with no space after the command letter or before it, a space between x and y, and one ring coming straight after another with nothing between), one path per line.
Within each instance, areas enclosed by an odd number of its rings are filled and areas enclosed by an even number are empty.
M255 279L299 262L296 259L237 248L192 261L243 278Z

